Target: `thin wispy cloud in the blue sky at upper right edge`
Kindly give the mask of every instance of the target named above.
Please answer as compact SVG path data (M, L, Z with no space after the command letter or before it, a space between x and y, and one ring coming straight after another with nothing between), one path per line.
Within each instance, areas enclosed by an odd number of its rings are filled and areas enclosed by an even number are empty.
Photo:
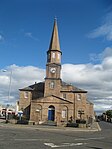
M96 38L103 36L107 40L112 40L112 12L108 13L101 26L89 33L88 37Z

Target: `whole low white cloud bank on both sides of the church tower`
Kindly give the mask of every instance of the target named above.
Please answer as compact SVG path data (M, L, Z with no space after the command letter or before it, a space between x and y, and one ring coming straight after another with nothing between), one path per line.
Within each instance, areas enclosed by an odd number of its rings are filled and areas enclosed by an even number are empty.
M99 64L64 64L62 80L88 91L88 99L95 104L95 110L112 108L112 48L106 48L100 56ZM34 82L44 81L45 70L34 66L11 65L7 72L0 72L0 99L7 102L10 71L12 70L11 96L13 103L19 99L19 88Z

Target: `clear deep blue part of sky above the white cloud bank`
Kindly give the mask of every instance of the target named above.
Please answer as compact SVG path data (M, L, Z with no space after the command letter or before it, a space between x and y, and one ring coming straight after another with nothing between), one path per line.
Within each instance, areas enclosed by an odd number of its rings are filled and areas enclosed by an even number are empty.
M0 67L45 68L53 19L58 19L62 63L88 63L111 41L88 38L110 11L110 0L0 0Z

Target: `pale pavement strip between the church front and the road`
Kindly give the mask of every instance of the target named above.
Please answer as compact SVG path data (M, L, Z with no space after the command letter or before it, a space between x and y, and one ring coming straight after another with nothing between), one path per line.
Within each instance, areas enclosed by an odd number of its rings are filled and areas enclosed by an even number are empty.
M4 119L0 119L0 127L6 128L21 128L21 129L36 129L36 130L47 130L47 131L101 131L98 122L93 122L93 124L88 128L75 128L75 127L62 127L62 126L47 126L47 125L21 125L21 124L11 124L5 123Z

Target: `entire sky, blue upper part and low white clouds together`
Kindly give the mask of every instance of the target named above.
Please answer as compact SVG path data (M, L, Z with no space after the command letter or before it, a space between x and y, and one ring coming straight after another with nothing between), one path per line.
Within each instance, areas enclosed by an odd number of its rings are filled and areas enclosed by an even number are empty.
M62 79L87 90L96 111L111 109L111 0L0 0L1 103L7 103L11 71L11 103L18 88L43 81L55 17Z

